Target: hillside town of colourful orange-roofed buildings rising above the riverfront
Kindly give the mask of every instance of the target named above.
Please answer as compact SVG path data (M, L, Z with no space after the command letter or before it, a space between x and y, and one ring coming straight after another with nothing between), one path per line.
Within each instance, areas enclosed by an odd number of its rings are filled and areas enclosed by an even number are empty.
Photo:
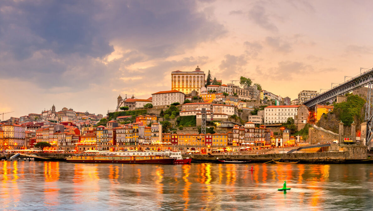
M170 89L154 92L147 99L119 95L116 108L105 117L67 107L56 111L54 105L41 113L10 117L0 123L0 149L33 149L38 142L48 142L50 150L64 151L160 150L177 145L206 154L359 141L360 137L352 135L356 131L341 139L314 125L333 111L333 101L317 105L315 110L303 104L316 97L317 91L300 91L291 100L244 76L223 82L212 79L210 70L206 76L197 66L191 72L171 72ZM335 102L346 98L339 96ZM202 110L206 110L206 133L201 132ZM317 135L309 131L317 131Z

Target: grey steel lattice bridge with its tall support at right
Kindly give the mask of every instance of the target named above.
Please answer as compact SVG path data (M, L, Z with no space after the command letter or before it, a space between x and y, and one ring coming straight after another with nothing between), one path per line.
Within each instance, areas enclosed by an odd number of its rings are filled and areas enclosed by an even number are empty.
M361 72L362 69L365 68L360 68L359 75L351 77L351 79L339 84L338 86L334 86L323 93L320 92L320 95L305 101L303 104L307 107L314 107L319 103L332 100L338 95L344 95L353 91L354 89L368 85L367 103L365 107L367 131L364 145L367 145L370 148L370 142L373 139L373 68L366 69L365 72ZM345 76L345 79L346 77L350 76ZM334 83L332 83L332 85L333 84Z

